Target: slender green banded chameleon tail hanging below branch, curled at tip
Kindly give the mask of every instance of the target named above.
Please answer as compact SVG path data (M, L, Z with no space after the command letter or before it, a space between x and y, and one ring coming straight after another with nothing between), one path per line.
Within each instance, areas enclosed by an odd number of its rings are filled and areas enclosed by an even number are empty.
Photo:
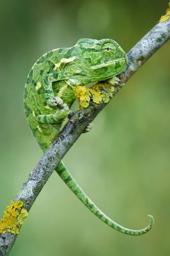
M147 233L151 227L154 224L154 219L151 215L147 215L150 218L150 224L145 227L142 230L130 230L125 227L120 226L116 222L112 221L108 216L106 216L96 205L91 201L90 198L85 194L85 192L82 191L82 189L79 187L77 182L74 180L74 178L71 176L71 174L68 172L66 167L62 162L60 162L55 169L58 175L62 178L62 180L66 183L66 185L71 189L72 192L79 198L80 201L91 211L96 215L101 221L108 224L108 226L112 227L113 229L127 234L131 236L140 236L145 233Z

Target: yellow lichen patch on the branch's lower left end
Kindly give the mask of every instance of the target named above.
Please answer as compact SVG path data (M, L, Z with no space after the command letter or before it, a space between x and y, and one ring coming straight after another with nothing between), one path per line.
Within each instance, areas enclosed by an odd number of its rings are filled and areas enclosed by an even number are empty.
M9 206L6 207L4 211L4 216L0 221L0 234L6 233L6 231L13 233L14 235L19 233L20 227L26 221L28 212L26 209L21 209L23 202L12 201Z

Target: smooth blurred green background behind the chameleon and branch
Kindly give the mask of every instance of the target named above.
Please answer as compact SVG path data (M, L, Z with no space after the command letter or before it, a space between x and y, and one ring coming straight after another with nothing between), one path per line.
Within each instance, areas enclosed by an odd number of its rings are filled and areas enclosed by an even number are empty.
M164 15L167 0L0 1L0 217L42 151L26 122L24 84L37 59L79 38L112 38L126 52ZM170 255L170 42L127 82L64 158L96 205L126 236L99 221L53 173L11 256ZM77 104L73 106L73 110Z

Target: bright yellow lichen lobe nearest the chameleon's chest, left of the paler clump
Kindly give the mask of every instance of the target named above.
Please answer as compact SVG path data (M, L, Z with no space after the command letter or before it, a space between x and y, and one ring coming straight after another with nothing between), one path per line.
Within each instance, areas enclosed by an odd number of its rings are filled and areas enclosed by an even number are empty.
M87 108L90 102L90 93L85 86L78 85L74 88L74 94L79 102L79 109Z

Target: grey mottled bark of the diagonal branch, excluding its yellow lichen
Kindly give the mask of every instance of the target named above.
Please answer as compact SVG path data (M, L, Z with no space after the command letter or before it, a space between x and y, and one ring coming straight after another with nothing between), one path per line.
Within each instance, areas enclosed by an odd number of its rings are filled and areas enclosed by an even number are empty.
M139 69L139 67L150 58L166 41L170 38L170 19L159 22L150 32L147 33L131 50L128 52L128 64L126 69L117 77L119 84L115 86L113 96L125 84L127 80ZM105 81L100 83L105 84ZM106 103L90 103L88 108L76 111L69 117L69 122L59 133L54 142L41 157L39 163L31 172L26 182L18 192L14 201L23 201L23 208L30 210L41 189L51 176L54 168L62 160L71 146L76 142L84 131L85 127L94 120L97 114L105 107ZM17 235L10 232L0 234L0 255L8 255Z

